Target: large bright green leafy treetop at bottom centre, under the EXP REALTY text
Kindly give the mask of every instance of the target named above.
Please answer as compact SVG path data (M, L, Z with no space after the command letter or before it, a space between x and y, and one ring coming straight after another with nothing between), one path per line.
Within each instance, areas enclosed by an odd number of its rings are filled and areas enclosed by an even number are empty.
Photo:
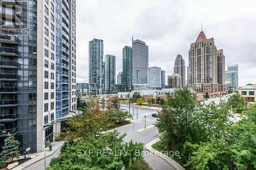
M100 135L98 138L90 136L89 140L81 140L75 145L67 147L65 152L51 160L51 169L131 169L133 161L144 163L143 156L136 155L136 151L143 151L143 144L123 142L124 135L117 131ZM83 151L87 151L84 153ZM90 151L90 153L89 153ZM148 168L144 168L148 169ZM132 169L131 169L132 170Z

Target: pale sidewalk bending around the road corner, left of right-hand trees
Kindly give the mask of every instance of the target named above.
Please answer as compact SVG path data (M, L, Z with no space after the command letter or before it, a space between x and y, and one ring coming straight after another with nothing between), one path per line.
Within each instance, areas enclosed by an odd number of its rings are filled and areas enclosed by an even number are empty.
M159 156L160 158L164 159L165 161L167 161L169 164L173 165L177 170L186 170L184 167L182 167L179 163L177 163L175 160L173 160L172 158L162 154L161 152L155 150L152 148L152 145L155 144L157 141L160 141L160 139L154 139L148 143L146 143L144 145L144 148L147 150L147 151L150 151L151 153Z

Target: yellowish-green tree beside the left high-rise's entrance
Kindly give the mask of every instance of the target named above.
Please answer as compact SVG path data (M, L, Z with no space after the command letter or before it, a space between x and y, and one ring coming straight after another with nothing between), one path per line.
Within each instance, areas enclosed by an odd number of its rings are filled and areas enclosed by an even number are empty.
M60 133L60 137L70 142L80 139L88 139L90 136L97 137L101 132L113 127L114 124L100 106L96 103L94 108L82 109L82 114L75 115L67 121L66 132Z

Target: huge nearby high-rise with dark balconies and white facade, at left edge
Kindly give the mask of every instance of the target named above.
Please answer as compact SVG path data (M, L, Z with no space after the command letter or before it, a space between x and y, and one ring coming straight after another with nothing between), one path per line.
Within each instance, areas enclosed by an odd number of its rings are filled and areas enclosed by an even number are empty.
M76 3L1 1L0 148L42 152L76 110Z

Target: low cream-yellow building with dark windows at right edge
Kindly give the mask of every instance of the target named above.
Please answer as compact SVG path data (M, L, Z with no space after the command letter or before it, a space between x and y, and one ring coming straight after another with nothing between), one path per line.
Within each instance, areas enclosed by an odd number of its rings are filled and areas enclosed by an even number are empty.
M238 93L242 95L246 102L256 102L256 84L241 87L238 89Z

